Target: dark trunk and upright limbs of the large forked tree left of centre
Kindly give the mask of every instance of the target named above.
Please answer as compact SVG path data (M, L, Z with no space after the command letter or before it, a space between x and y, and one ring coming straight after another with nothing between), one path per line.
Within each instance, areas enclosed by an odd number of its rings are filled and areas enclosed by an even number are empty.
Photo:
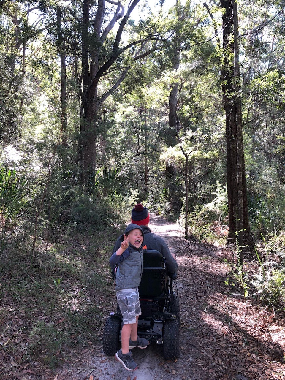
M104 25L105 20L105 0L97 1L97 12L93 21L93 33L89 38L90 29L90 0L83 1L83 17L82 17L82 108L83 115L80 123L80 138L79 138L79 155L81 161L81 182L87 185L90 173L96 169L96 142L97 142L97 122L98 110L101 101L105 100L120 84L127 71L121 75L121 78L114 84L111 90L108 90L105 95L98 98L98 82L106 71L112 66L124 49L120 48L123 28L125 27L131 12L138 4L139 0L132 0L128 4L127 12L123 16L124 7L121 2L111 2L117 5L114 17L108 25ZM93 2L92 2L93 4ZM99 67L99 56L101 48L108 33L112 30L115 23L123 17L114 39L114 44L105 63ZM102 32L103 30L103 32ZM100 35L101 33L101 35ZM89 41L90 40L90 41ZM92 42L92 43L91 43ZM134 43L135 44L135 43ZM130 45L127 45L129 47ZM127 48L125 47L125 49ZM150 51L149 51L150 52ZM149 53L148 53L149 54ZM90 65L89 65L90 57ZM140 55L135 59L139 59Z

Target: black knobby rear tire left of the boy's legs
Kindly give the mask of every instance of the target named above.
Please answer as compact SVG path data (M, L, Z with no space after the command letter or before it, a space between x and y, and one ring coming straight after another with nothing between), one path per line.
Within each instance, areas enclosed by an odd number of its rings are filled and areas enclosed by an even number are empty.
M103 351L108 356L114 356L120 349L120 329L120 319L110 315L103 331Z

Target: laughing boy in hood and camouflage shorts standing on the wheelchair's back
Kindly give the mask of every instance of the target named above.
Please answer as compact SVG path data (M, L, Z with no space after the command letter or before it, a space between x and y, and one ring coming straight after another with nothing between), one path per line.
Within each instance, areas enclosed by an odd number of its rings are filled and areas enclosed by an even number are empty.
M116 295L123 316L122 348L115 356L129 371L135 371L138 368L130 348L146 348L149 345L148 340L138 337L138 317L141 315L138 287L142 275L143 239L144 233L140 226L128 225L120 236L120 248L110 258L112 269L118 264Z

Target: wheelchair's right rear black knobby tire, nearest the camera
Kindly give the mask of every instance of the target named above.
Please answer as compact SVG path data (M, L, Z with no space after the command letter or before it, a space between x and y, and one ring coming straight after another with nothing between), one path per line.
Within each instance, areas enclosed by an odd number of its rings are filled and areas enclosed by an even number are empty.
M163 324L163 356L166 360L179 357L179 323L168 319Z

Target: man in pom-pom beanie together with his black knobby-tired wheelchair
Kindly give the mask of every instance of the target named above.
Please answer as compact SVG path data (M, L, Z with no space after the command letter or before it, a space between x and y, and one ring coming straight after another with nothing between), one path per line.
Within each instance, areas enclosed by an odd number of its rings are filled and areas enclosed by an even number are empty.
M136 206L132 211L132 223L139 225L144 232L143 270L138 288L141 306L138 337L161 345L165 359L176 359L179 356L180 314L173 280L177 278L177 263L165 241L150 233L147 209ZM146 224L140 225L139 222ZM118 249L117 242L113 252ZM122 324L122 314L117 307L117 312L109 315L103 332L103 351L106 355L115 355L119 350Z

